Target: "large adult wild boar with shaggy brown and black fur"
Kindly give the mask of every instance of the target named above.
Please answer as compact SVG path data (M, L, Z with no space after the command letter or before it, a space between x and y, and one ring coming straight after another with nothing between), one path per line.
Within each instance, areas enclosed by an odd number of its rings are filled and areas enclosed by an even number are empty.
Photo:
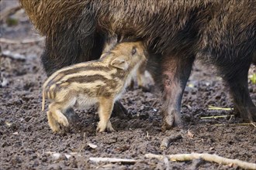
M153 70L163 92L164 130L180 123L182 93L195 56L216 66L244 121L256 121L247 84L256 51L256 1L19 1L46 36L42 62L48 75L99 58L109 35L132 36L157 53L149 61L157 61Z

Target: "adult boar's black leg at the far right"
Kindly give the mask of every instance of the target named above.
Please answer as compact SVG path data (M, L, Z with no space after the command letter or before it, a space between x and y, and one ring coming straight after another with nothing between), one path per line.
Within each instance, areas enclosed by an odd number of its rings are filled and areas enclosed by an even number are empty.
M244 121L256 121L256 107L248 90L247 77L251 65L249 58L219 67L223 73L223 80L230 87L230 94L234 100L234 110L239 112Z

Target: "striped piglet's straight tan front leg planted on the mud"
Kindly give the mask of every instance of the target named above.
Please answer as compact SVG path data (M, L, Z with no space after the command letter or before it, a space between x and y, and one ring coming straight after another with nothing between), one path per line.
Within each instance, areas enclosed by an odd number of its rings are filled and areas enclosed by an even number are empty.
M99 99L99 124L97 127L97 132L102 131L115 131L112 128L112 124L109 120L112 109L113 109L113 98L112 97L100 97Z

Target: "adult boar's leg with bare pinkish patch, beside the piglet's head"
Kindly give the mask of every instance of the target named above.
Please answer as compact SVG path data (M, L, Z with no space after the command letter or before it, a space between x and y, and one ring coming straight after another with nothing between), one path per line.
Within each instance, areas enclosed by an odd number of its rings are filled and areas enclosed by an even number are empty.
M164 114L162 131L166 131L175 125L182 125L180 117L182 95L194 59L194 56L164 56L160 63Z

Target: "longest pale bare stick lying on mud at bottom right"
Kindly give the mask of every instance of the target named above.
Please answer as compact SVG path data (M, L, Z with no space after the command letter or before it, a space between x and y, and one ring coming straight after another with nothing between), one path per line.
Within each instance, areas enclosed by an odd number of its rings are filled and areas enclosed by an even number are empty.
M243 162L238 159L230 159L230 158L223 158L219 155L211 155L211 154L177 154L177 155L154 155L154 154L146 154L146 158L158 158L158 159L164 159L169 158L171 161L174 162L185 162L185 161L191 161L193 159L199 159L202 158L203 160L207 162L216 162L218 164L223 165L237 165L240 168L245 169L256 169L256 164L250 163L250 162Z

